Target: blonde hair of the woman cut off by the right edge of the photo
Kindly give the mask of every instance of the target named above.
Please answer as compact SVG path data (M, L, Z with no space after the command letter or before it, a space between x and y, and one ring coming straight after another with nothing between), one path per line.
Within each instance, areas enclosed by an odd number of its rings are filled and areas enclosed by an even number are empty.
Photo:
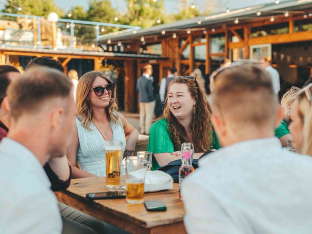
M303 123L303 140L300 153L312 156L312 84L303 88L297 95L298 116ZM310 93L310 94L309 94Z

